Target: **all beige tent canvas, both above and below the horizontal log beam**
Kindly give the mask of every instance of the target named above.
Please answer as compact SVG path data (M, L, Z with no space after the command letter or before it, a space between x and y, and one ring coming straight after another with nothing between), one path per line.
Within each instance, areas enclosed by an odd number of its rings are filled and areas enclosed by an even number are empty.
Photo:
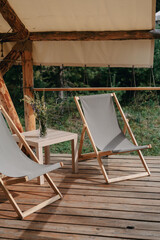
M8 0L30 32L152 30L155 0ZM0 16L0 32L10 29ZM7 54L13 43L4 44ZM150 67L154 40L34 41L33 63Z

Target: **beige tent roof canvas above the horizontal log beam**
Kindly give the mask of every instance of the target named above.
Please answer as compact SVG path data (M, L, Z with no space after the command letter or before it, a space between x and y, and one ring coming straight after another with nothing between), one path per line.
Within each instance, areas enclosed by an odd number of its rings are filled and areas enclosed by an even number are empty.
M8 0L31 32L153 29L154 1ZM0 32L8 31L1 21Z

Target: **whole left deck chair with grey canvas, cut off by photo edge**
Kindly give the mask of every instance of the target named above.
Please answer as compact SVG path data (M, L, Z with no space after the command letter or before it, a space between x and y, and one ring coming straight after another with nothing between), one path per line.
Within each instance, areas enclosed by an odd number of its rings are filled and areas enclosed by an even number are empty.
M21 151L15 142L4 117L7 120L10 128L13 129L19 137L20 145L25 147L32 160ZM63 163L56 163L53 165L39 164L37 157L32 152L24 137L16 128L4 108L0 106L0 187L21 219L62 198L62 194L47 174L48 172L57 169L62 165ZM30 208L29 210L22 212L6 186L14 183L27 182L41 175L44 175L45 179L56 195Z

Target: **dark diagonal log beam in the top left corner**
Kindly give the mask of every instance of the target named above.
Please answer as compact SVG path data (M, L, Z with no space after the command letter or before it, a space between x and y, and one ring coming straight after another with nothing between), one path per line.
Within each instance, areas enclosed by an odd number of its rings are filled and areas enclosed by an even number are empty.
M0 0L0 13L7 21L7 23L11 26L13 32L17 32L17 39L28 39L28 30L25 28L25 25L21 22L7 0Z

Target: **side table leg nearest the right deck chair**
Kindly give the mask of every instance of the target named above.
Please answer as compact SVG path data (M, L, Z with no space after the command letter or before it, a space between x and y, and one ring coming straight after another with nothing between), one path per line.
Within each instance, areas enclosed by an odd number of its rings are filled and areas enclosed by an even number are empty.
M78 173L78 136L71 140L72 145L72 172Z

